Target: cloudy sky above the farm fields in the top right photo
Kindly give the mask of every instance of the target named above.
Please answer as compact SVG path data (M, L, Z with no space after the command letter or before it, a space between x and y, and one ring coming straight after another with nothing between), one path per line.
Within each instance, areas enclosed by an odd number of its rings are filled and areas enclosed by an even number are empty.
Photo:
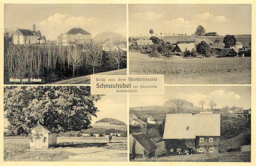
M251 34L250 4L129 4L129 36L206 32ZM141 34L141 35L140 35Z

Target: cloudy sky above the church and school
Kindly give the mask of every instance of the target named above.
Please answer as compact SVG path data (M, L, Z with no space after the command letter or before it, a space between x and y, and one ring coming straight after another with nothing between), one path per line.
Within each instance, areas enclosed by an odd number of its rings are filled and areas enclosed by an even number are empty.
M95 37L113 31L126 37L126 4L5 4L5 29L40 30L47 40L71 28L81 28Z

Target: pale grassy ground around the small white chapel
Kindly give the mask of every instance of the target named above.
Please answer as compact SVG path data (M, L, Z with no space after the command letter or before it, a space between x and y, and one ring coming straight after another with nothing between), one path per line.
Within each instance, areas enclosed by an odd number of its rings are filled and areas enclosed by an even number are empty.
M105 149L112 156L115 155L115 151L120 151L116 154L119 155L117 160L127 156L123 153L127 150L127 137L112 137L112 143L108 143L108 136L57 137L58 147L49 150L29 150L29 137L4 137L3 142L4 161L62 161L67 160L69 155L89 151L97 153L100 151L98 148Z

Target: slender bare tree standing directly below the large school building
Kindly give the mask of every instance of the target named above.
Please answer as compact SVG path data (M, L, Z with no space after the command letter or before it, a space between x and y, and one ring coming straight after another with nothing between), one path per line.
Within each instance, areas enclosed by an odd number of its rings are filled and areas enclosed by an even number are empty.
M69 58L70 58L69 60L70 64L71 66L73 66L73 77L74 77L76 68L80 66L82 62L81 50L78 47L73 48L70 52Z

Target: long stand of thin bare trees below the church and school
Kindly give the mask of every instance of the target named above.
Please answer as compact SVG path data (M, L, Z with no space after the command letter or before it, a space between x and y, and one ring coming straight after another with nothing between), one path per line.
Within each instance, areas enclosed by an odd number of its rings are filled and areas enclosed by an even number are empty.
M4 33L5 82L9 78L46 77L46 83L49 83L126 68L126 52L121 49L102 51L101 43L70 43L70 46L57 46L55 43L14 45L12 35L8 30Z

